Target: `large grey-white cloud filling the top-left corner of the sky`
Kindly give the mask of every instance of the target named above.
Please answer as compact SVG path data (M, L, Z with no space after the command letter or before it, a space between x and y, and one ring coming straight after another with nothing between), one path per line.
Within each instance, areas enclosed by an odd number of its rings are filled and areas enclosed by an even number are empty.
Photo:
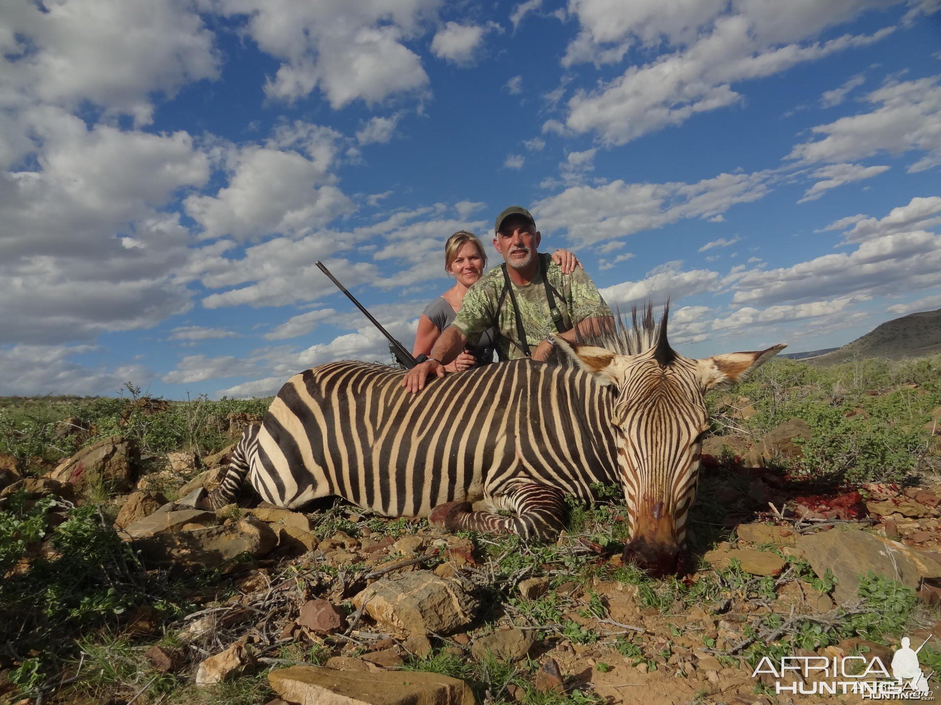
M221 63L191 0L5 3L0 33L10 39L0 72L21 98L68 109L88 101L137 125L151 122L153 93L215 79Z

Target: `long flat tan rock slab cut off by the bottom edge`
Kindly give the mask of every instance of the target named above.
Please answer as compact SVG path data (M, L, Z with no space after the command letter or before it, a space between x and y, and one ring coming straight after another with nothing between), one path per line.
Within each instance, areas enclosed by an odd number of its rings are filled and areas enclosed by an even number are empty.
M272 689L298 705L474 705L467 683L438 673L377 671L369 678L321 666L268 673Z

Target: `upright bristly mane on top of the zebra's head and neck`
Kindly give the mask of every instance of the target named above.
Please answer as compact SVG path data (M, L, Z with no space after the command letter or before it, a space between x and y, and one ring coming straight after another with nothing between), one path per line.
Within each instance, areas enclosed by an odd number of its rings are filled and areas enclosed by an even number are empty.
M676 359L677 353L667 340L667 321L670 316L670 303L663 305L660 321L654 321L653 305L647 304L638 310L631 306L630 319L618 310L614 316L614 327L597 334L576 334L575 341L582 345L594 345L622 355L637 355L654 349L654 358L662 366L669 365ZM568 355L553 349L548 362L564 367L574 366Z

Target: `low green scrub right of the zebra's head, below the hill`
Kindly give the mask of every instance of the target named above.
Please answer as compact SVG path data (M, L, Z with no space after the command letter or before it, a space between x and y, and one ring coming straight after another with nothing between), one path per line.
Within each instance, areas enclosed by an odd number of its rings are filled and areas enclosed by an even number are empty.
M919 388L900 386L918 384ZM737 418L722 403L742 396L755 409ZM832 367L774 359L731 392L707 396L713 431L758 442L789 418L810 427L804 457L778 459L806 478L850 483L898 481L938 467L923 426L941 405L941 356L861 360Z

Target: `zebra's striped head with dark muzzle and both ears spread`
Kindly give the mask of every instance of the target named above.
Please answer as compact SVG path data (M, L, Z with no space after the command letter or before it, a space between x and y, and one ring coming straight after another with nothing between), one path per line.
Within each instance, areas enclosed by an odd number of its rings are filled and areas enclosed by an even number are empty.
M742 382L787 347L695 360L670 347L666 321L664 310L655 326L647 307L641 326L635 312L633 328L619 325L600 341L605 347L556 338L577 367L616 390L611 417L630 523L624 560L656 575L680 568L702 439L710 429L706 392Z

